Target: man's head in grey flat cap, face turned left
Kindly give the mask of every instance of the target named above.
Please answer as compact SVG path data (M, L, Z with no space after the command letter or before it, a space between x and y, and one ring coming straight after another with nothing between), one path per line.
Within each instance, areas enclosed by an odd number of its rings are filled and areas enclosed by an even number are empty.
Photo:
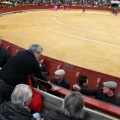
M104 85L103 93L108 96L112 96L117 87L117 83L113 81L108 81L108 82L104 82L103 85Z

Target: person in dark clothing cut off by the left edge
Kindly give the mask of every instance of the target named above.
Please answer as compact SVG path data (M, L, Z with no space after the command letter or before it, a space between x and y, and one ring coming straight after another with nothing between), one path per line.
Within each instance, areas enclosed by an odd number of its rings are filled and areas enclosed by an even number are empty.
M2 68L10 58L11 55L9 51L0 46L0 68Z

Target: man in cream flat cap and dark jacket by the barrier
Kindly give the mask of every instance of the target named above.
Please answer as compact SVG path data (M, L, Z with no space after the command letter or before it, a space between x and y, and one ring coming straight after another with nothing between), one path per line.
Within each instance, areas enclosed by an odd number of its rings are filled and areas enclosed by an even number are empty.
M51 83L70 89L70 83L66 78L64 78L64 75L65 71L63 69L56 70L55 76L51 79Z

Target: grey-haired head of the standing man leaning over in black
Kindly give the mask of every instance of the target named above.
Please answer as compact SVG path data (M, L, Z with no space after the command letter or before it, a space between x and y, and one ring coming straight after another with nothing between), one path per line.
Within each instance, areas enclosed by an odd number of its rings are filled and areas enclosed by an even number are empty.
M38 44L31 45L28 50L34 54L37 60L40 58L43 51L42 47Z

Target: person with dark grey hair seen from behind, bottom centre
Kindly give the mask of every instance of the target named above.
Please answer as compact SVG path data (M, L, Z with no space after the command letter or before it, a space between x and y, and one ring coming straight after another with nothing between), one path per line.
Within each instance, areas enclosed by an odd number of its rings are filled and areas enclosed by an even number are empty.
M50 111L44 120L83 120L84 100L79 92L72 92L64 98L61 110Z

